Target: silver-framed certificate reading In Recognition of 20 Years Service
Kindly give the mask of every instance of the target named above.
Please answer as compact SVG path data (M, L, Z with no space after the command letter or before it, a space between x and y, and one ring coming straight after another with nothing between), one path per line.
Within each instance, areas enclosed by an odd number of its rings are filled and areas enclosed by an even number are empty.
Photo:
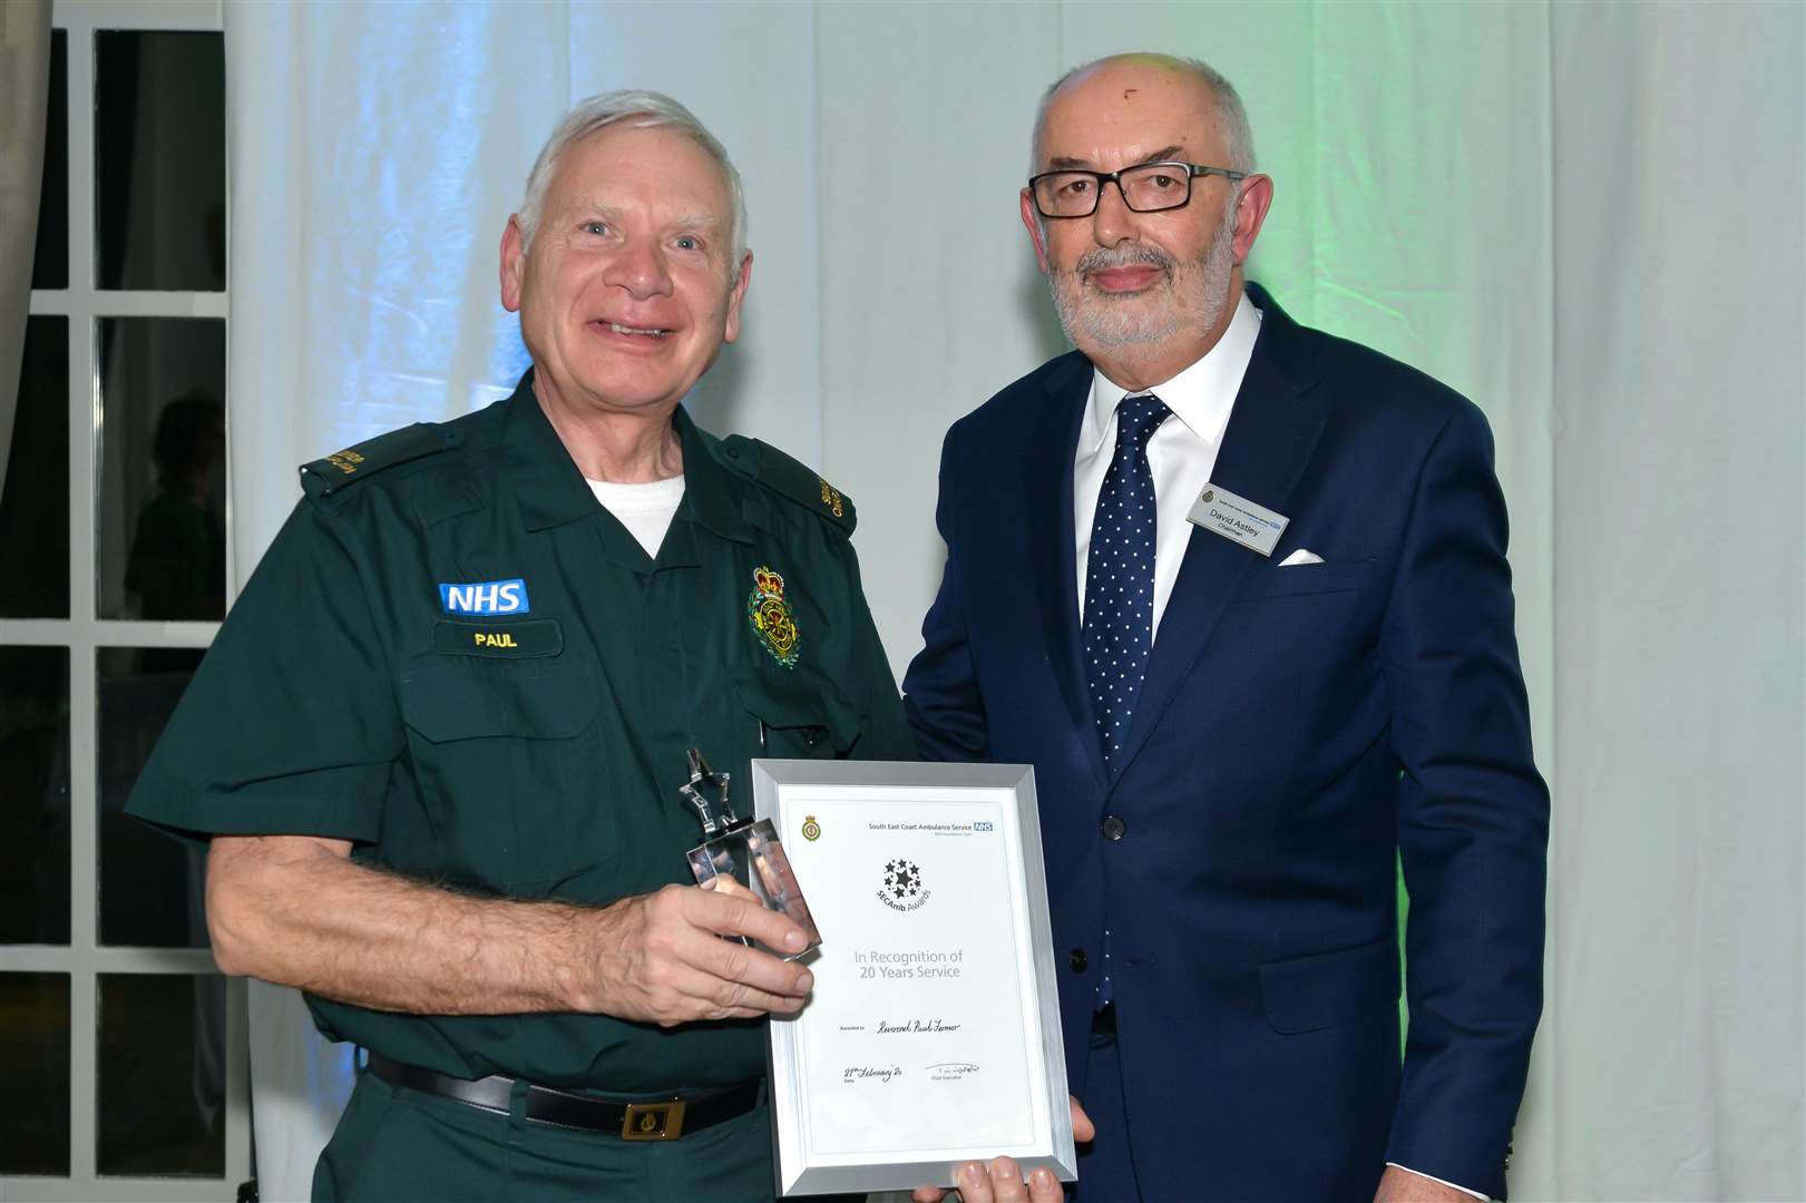
M1013 1156L1076 1178L1035 773L753 760L822 932L771 1021L784 1196L954 1185Z

